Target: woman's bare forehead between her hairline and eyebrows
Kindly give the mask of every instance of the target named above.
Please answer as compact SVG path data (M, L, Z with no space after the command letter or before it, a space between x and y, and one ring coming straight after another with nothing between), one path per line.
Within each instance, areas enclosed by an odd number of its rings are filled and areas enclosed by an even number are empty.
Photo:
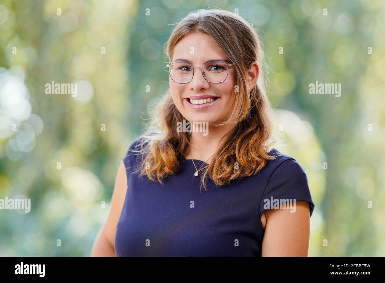
M224 59L228 57L219 48L215 40L206 33L191 33L183 37L174 47L171 61L182 58L195 64L203 64L211 59Z

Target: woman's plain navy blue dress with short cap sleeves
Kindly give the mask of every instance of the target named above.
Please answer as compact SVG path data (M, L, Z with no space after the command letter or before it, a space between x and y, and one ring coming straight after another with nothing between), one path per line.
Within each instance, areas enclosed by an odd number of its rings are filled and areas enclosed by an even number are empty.
M191 159L181 157L180 170L164 185L133 168L138 160L132 142L123 162L127 172L127 194L116 226L116 256L261 256L263 211L285 199L313 199L306 174L290 156L272 149L276 157L257 174L217 186L210 178L208 191L200 189L200 178ZM194 159L196 167L208 165ZM269 202L270 201L270 202ZM289 201L289 200L286 200ZM269 205L271 204L271 205Z

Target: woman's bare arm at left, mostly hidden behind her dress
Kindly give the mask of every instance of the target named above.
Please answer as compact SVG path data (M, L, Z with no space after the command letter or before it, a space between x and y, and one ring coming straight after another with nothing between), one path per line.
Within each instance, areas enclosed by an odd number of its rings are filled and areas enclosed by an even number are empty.
M112 194L110 211L107 220L95 239L94 246L92 247L92 256L115 256L114 244L116 225L122 212L126 192L126 166L123 162L121 162L115 179L115 187L114 193Z

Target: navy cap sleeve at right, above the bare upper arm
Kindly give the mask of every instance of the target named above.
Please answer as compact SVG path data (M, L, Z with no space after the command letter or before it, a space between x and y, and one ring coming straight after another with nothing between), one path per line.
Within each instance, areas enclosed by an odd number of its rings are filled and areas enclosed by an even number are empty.
M295 159L283 161L273 172L264 189L259 204L259 217L265 209L271 208L274 203L292 201L307 201L310 208L310 217L313 214L314 202L311 198L308 179L305 171Z

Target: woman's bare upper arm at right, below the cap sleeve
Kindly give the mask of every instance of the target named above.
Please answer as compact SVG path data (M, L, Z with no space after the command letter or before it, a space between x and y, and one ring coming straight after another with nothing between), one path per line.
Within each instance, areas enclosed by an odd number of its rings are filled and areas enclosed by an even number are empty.
M310 211L307 201L297 201L296 211L266 209L262 256L307 256ZM263 216L262 216L263 217Z

